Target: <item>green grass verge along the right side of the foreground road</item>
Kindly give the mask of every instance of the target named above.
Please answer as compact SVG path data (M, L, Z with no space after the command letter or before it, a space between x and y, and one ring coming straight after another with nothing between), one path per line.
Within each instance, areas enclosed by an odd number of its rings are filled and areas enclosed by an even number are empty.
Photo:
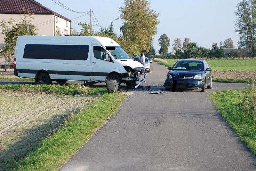
M236 132L236 136L240 137L254 154L256 154L256 111L252 110L248 103L241 105L241 102L244 97L255 95L255 91L255 88L223 90L209 95L221 116Z

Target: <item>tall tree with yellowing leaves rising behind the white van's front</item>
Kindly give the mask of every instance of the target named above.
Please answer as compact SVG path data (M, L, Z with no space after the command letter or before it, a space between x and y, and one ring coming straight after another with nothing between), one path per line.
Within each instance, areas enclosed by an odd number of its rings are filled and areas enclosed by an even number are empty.
M147 45L156 35L159 13L151 10L149 0L124 0L124 6L119 11L124 20L120 27L124 37L133 43L137 42L142 51L149 50Z

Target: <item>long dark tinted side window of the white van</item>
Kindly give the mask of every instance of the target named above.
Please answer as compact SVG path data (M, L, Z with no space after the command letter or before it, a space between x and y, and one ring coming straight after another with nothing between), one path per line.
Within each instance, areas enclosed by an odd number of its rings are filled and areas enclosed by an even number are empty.
M23 58L87 60L88 45L26 44Z

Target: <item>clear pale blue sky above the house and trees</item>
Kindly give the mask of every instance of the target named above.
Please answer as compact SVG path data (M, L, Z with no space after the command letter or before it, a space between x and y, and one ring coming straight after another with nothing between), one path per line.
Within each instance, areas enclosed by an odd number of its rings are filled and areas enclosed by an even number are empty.
M52 0L36 0L40 4L51 10L73 19L83 14L70 12ZM119 7L123 5L123 0L59 0L68 8L85 12L92 9L100 26L105 28L110 26L111 21L120 18ZM160 13L157 25L157 34L153 41L153 46L158 53L160 46L158 38L166 34L171 40L169 52L172 51L173 40L181 39L182 43L186 37L191 42L196 42L199 46L211 48L212 43L222 43L225 39L233 38L235 48L237 47L238 35L235 32L236 4L241 0L151 0L151 9ZM72 20L72 27L80 30L76 22L90 23L89 15ZM114 21L113 28L117 35L121 32L119 27L122 25L121 19ZM93 30L99 28L92 21Z

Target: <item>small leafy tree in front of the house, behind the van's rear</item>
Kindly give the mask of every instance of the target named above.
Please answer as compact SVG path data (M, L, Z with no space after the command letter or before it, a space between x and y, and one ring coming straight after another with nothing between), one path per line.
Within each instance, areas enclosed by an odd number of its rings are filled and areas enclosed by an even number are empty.
M34 16L25 11L20 15L21 21L17 22L14 19L10 19L8 22L5 20L0 21L0 27L2 27L1 34L4 35L4 43L6 44L0 49L0 57L5 58L8 63L13 61L15 45L18 36L20 35L37 35L37 28L31 24Z

